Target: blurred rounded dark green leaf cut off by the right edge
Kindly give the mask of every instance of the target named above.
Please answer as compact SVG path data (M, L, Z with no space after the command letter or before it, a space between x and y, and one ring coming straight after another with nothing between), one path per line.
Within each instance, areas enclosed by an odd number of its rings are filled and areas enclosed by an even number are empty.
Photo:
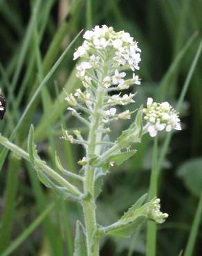
M183 183L196 196L202 192L202 158L193 158L178 167L177 175Z

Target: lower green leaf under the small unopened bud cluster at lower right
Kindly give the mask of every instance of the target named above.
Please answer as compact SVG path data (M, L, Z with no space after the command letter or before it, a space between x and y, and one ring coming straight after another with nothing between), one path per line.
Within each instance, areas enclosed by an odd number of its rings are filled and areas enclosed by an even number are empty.
M130 237L133 232L147 219L144 215L139 215L133 221L118 222L116 225L111 226L110 230L104 232L105 235L111 235L116 238Z

